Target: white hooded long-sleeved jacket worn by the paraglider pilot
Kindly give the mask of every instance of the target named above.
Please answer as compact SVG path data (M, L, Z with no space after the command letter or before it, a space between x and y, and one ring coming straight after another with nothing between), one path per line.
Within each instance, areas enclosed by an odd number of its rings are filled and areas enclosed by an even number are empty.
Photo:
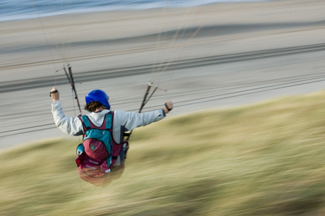
M90 114L87 114L87 116L95 126L101 126L107 112L110 112L110 110L105 109L99 113L91 112ZM74 136L83 134L83 125L81 120L78 117L65 116L60 100L52 102L52 114L55 124L64 133ZM112 129L113 138L116 143L122 143L123 133L125 131L131 131L136 127L146 126L155 121L159 121L164 117L165 112L163 109L143 113L115 110Z

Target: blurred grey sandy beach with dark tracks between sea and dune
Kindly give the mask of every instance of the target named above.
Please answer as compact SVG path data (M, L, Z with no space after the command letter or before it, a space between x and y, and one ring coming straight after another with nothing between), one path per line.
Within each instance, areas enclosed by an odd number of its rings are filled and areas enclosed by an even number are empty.
M60 70L71 64L81 100L100 88L112 109L175 102L171 116L223 109L325 86L325 1L265 1L195 8L69 14L0 23L1 145L61 136L49 90L78 113ZM167 90L167 91L166 91Z

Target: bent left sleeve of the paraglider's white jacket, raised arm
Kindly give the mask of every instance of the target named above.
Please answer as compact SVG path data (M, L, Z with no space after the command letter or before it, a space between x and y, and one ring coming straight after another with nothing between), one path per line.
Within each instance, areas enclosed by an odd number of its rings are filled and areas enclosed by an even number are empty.
M83 134L83 124L78 117L65 116L61 107L61 101L52 103L52 114L57 127L69 135Z

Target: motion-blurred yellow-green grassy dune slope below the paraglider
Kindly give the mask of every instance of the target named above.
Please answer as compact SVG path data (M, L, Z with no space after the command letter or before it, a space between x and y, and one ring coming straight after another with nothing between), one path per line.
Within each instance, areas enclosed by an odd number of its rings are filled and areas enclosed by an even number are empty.
M0 215L323 215L324 104L319 92L138 128L104 187L78 179L78 139L3 151Z

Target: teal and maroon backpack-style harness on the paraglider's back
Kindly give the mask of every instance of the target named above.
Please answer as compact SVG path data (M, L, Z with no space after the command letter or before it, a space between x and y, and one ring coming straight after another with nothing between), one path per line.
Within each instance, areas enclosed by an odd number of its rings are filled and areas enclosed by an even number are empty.
M83 143L78 145L76 164L81 179L101 184L120 156L124 162L127 143L116 143L112 138L114 112L105 114L101 126L95 126L88 116L78 116L83 124Z

